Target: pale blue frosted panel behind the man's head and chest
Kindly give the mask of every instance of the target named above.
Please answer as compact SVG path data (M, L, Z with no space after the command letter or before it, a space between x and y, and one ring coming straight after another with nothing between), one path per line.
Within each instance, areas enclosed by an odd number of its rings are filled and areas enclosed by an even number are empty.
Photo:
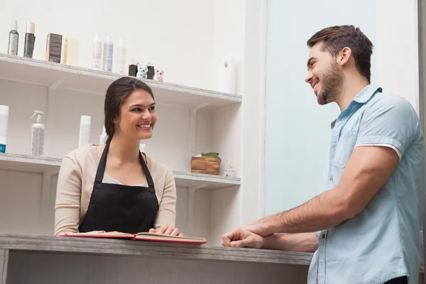
M339 109L318 105L305 83L307 39L327 26L354 24L376 43L375 15L371 0L333 0L320 6L312 0L268 1L265 214L302 204L324 185L330 123Z

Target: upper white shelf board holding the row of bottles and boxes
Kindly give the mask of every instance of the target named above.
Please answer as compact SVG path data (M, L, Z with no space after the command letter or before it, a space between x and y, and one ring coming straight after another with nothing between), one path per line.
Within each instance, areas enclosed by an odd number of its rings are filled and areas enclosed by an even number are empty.
M77 89L104 95L109 84L119 77L123 76L111 72L0 53L1 79L45 86L61 82L58 86L60 88ZM204 109L215 111L222 107L239 104L242 101L242 97L236 94L214 92L153 80L142 81L153 89L155 101L160 104L171 104L188 109L195 109L202 104L208 104Z

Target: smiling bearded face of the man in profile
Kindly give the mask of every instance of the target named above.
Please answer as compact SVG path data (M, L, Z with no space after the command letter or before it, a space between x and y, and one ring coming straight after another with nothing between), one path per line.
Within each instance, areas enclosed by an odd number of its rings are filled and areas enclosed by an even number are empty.
M322 47L323 43L320 42L310 50L305 82L314 89L318 104L329 104L339 97L344 76L337 59Z

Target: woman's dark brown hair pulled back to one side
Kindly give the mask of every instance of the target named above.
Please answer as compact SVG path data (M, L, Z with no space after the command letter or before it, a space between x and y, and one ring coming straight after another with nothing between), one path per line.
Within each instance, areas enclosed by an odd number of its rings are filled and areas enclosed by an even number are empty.
M109 85L107 94L105 94L104 114L105 114L105 131L107 132L107 143L111 142L114 135L115 126L114 119L121 117L121 104L126 97L136 89L143 89L154 99L153 91L148 84L133 77L121 77Z

